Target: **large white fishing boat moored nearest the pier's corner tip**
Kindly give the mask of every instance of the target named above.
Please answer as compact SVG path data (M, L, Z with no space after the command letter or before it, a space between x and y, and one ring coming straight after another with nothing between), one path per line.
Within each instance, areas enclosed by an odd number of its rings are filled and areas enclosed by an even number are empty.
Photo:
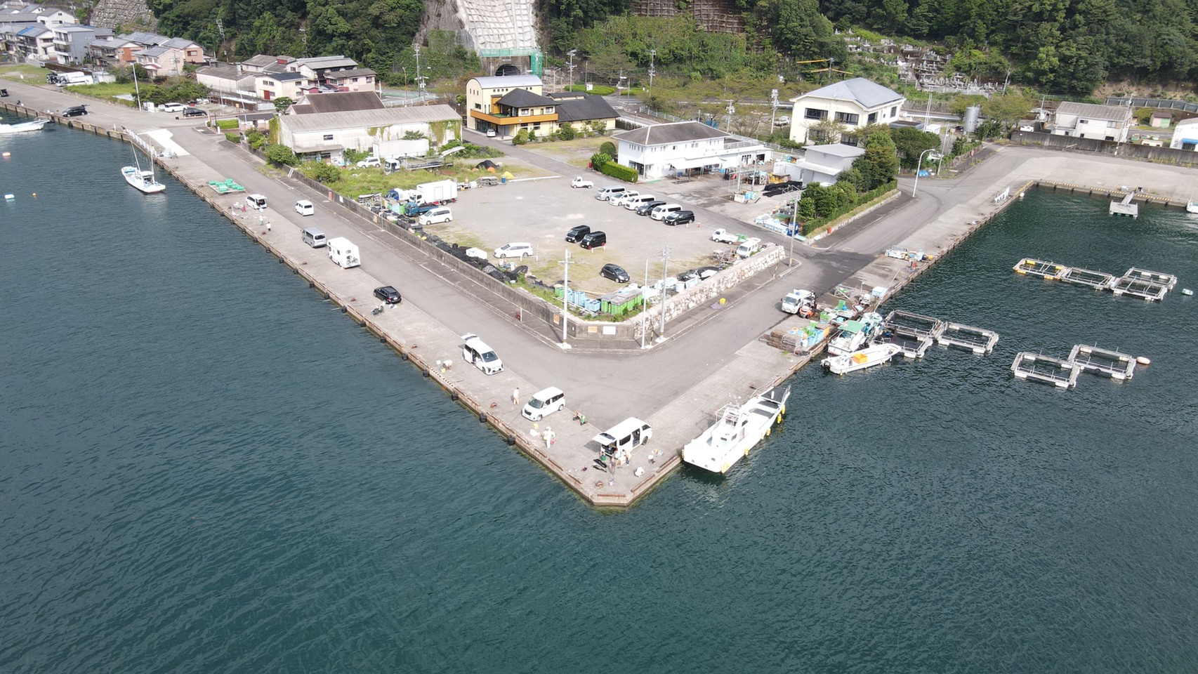
M791 387L774 387L744 405L725 406L712 427L682 448L682 460L713 473L727 473L781 421L789 396Z

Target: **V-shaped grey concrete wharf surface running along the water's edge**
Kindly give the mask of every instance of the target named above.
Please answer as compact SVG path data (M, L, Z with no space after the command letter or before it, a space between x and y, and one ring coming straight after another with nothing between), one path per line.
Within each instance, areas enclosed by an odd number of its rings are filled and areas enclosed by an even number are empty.
M87 116L56 117L56 121L111 135L127 127L158 148L169 148L173 156L159 159L159 164L294 269L300 283L326 293L331 303L344 308L349 317L420 368L509 443L599 506L635 502L678 467L682 447L710 425L725 403L744 400L806 363L806 358L778 351L760 340L780 324L795 321L778 309L789 290L807 287L818 295L836 285L885 286L893 293L927 266L912 267L908 261L887 257L882 255L887 248L901 245L943 255L1005 205L994 198L1008 188L1010 199L1017 199L1019 192L1036 182L1057 181L1073 189L1112 192L1130 184L1145 190L1145 199L1184 205L1198 181L1198 170L1192 169L1034 147L994 147L985 162L957 177L922 180L915 198L910 196L909 182L901 180L898 199L839 227L815 245L795 245L797 265L787 267L783 262L773 272L752 277L726 293L722 305L713 303L690 310L666 326L662 342L643 352L588 351L562 348L545 330L519 323L510 306L488 290L486 284L464 278L429 257L413 245L406 232L381 229L331 201L327 193L264 168L254 156L228 142L223 133L190 120L141 113L40 86L6 83L6 87L12 96L0 101L0 107L8 110L18 98L30 113L43 115L47 110L86 103L91 111ZM503 150L567 177L577 172L558 162L541 163L524 148L503 146ZM126 154L114 157L114 186L123 163ZM242 194L218 195L207 187L208 181L224 178L235 180L248 193L267 196L270 208L261 213L261 220L254 211L242 213L240 207L234 208L242 202ZM531 183L484 189L508 190L502 194L519 198L522 190L533 189L527 184ZM564 182L559 187L569 192ZM464 192L459 200L468 202L478 198L471 193L486 194L484 189ZM488 199L496 194L490 193ZM167 199L169 195L170 189ZM313 201L316 213L309 217L296 213L292 205L298 199ZM726 220L726 215L709 214L708 221ZM329 261L325 249L308 248L300 237L305 226L356 243L362 266L341 269ZM779 241L776 236L762 238ZM629 272L637 275L633 269ZM374 315L371 309L381 302L373 290L382 285L399 289L404 302ZM460 335L466 333L479 335L498 352L503 372L486 376L462 360ZM444 360L450 360L452 368L443 368ZM513 403L513 389L519 388L522 405L532 393L550 385L565 391L567 408L533 429L532 421L521 418L519 406ZM794 400L801 399L795 393ZM574 409L586 413L589 421L586 426L571 421ZM598 447L591 438L628 417L648 421L653 441L634 453L630 464L613 472L600 470L594 464ZM541 436L546 427L556 433L551 447L546 447ZM403 442L397 438L397 444ZM757 451L772 450L768 441L757 448Z

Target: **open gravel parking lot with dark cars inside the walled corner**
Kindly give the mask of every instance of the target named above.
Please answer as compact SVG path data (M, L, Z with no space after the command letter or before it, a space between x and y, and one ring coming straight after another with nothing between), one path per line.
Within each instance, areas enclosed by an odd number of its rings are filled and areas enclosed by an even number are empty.
M633 279L643 283L646 262L651 283L661 278L661 251L670 248L670 275L713 263L713 251L727 248L710 239L716 227L762 236L757 227L739 225L731 218L696 210L696 223L670 226L648 215L637 215L623 206L611 206L595 199L598 188L618 184L605 176L583 171L595 182L591 189L570 187L573 176L562 178L510 182L458 193L452 223L425 226L425 231L460 245L482 248L488 253L509 242L528 242L534 257L522 263L545 283L562 279L565 251L573 256L570 285L592 293L617 290L622 284L599 277L605 263L619 265ZM653 194L684 208L694 205L657 189L659 184L634 186L641 194ZM660 186L667 187L667 186ZM694 186L691 186L694 187ZM722 186L721 186L722 187ZM672 192L672 190L671 190ZM575 225L588 225L607 233L607 245L586 250L565 242L565 232ZM494 255L492 255L494 261Z

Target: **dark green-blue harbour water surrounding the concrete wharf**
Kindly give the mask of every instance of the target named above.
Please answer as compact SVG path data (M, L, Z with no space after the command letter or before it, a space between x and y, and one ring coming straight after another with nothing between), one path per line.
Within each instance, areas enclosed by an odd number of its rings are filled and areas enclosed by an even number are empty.
M0 672L1198 666L1198 304L1010 271L1198 286L1182 213L1029 196L887 308L996 328L993 356L807 369L731 475L612 515L176 183L128 189L127 147L0 145ZM1082 341L1154 364L1010 378Z

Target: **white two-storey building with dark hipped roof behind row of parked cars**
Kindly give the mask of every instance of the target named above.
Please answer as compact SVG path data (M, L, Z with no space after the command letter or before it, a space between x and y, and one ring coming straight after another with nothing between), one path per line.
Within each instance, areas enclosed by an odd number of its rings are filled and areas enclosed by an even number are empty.
M617 162L646 178L671 176L690 169L719 170L768 162L760 142L744 140L700 122L653 125L612 136Z

